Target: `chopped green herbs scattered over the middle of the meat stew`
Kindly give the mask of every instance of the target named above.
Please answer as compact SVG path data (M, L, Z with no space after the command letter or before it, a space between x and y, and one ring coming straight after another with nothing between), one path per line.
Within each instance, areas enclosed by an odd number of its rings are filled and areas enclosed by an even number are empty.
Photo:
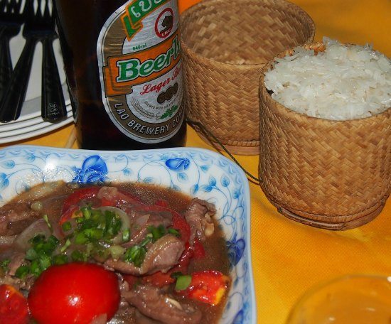
M20 278L28 274L39 276L53 264L88 261L91 256L103 261L110 256L114 259L124 257L136 266L141 266L146 254L145 246L154 241L153 234L147 234L146 239L139 246L125 249L117 244L121 239L122 242L129 242L130 229L120 232L122 219L116 212L85 206L76 210L74 214L77 215L75 223L66 221L61 225L63 232L68 234L63 244L54 235L46 238L43 234L36 234L28 241L31 247L26 251L26 264L18 269L17 276ZM48 216L45 215L43 218L51 229ZM119 242L114 240L117 237ZM72 244L80 247L70 253L68 248Z

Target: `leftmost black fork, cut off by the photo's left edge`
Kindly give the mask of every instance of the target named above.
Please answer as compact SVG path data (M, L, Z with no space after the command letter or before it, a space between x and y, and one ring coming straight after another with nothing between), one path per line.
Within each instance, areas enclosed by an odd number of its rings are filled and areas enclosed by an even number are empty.
M9 41L21 31L22 0L0 0L0 99L11 78L12 61Z

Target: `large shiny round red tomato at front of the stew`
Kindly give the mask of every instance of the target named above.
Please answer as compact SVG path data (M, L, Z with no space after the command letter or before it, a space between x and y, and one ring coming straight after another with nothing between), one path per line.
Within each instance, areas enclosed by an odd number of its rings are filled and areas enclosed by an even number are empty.
M31 315L40 324L88 324L98 315L110 320L120 301L116 274L97 264L50 266L28 295Z

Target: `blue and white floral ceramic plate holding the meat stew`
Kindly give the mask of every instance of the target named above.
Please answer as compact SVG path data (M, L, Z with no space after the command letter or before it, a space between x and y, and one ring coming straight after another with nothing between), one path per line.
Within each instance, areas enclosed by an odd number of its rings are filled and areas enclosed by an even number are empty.
M225 233L232 278L221 323L256 323L250 190L235 163L200 148L85 151L10 146L0 150L0 206L33 185L55 180L151 183L213 202Z

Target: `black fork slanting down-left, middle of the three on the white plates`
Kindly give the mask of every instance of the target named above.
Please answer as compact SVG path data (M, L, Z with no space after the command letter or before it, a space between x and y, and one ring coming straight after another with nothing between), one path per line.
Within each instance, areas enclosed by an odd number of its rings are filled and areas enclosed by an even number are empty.
M45 6L48 1L45 0ZM34 0L26 0L26 23L23 27L23 37L26 38L26 43L11 75L11 80L9 80L9 86L1 100L1 122L16 120L20 116L26 97L36 45L38 41L42 41L43 38L52 33L51 30L48 30L47 23L45 23L43 18L41 11L42 1L37 0L36 2L38 6L37 9L34 9Z

